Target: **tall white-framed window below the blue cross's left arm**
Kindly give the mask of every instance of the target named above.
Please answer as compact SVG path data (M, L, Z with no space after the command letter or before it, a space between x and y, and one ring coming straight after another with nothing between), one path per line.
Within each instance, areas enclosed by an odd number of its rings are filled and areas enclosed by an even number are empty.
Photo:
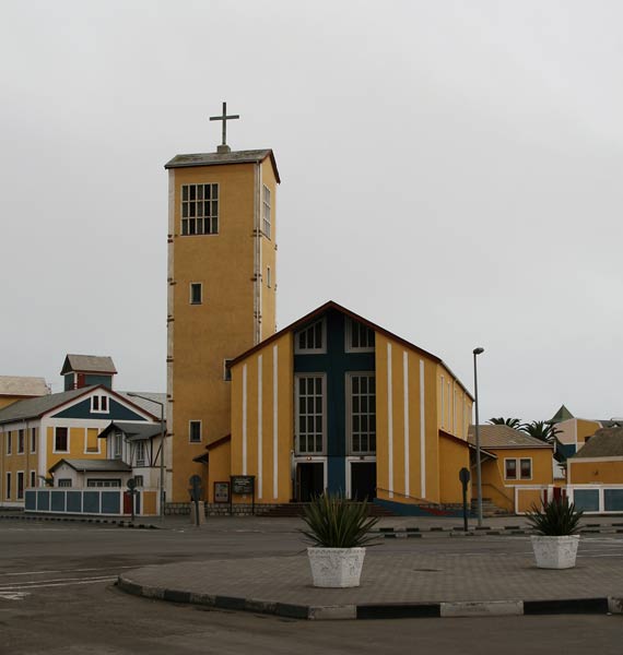
M296 451L319 454L325 451L325 376L296 378Z

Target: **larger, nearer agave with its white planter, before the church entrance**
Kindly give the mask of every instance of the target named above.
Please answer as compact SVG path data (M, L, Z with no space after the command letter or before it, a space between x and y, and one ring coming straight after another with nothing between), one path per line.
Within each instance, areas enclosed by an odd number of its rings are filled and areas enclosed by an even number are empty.
M303 521L307 529L301 532L313 544L307 556L314 586L358 586L365 546L375 541L369 531L378 522L368 516L367 502L325 492L305 508Z

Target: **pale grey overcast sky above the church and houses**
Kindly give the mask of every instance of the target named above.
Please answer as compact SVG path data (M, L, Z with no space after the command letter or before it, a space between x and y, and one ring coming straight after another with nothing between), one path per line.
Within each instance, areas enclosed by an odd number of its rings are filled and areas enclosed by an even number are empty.
M0 0L0 374L165 391L167 176L274 151L278 326L332 299L480 417L623 416L623 4Z

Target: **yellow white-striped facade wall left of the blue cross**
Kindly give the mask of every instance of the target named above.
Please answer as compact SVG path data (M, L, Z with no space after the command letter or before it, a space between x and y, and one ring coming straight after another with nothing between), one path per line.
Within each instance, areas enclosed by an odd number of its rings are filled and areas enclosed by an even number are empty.
M232 475L256 476L256 502L258 503L289 502L292 499L290 475L294 426L292 356L292 334L286 333L263 348L251 353L232 368ZM258 449L260 440L261 449ZM234 502L250 501L249 498L238 496L233 500Z

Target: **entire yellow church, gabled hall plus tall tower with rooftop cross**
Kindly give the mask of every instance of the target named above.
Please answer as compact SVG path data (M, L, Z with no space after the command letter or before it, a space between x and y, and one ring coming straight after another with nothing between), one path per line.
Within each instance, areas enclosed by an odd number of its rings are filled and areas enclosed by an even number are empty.
M216 152L165 165L167 499L199 475L210 503L231 476L257 503L460 503L473 398L440 358L336 302L275 331L280 176L271 150L231 151L232 118Z

